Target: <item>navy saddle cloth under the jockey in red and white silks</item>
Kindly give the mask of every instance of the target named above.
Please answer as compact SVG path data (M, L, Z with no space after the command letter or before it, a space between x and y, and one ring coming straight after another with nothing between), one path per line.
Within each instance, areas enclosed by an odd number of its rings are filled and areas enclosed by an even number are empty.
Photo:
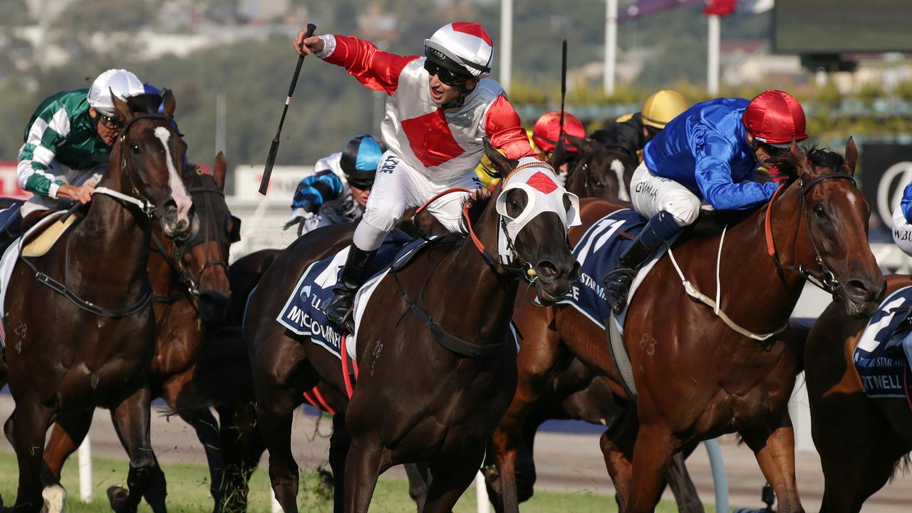
M371 261L368 268L368 281L358 290L355 296L355 333L349 335L350 340L356 340L358 324L364 305L368 303L371 293L377 284L389 272L390 265L400 259L409 258L411 254L420 250L427 244L424 239L411 239L393 232L379 247L377 256ZM318 260L307 267L304 274L298 279L291 296L285 301L285 307L275 319L279 324L298 335L306 335L314 343L323 346L326 351L341 357L342 329L326 319L326 303L333 296L332 288L336 286L339 272L348 257L348 248L339 251L332 257ZM355 344L347 344L347 350L352 360L355 360Z

